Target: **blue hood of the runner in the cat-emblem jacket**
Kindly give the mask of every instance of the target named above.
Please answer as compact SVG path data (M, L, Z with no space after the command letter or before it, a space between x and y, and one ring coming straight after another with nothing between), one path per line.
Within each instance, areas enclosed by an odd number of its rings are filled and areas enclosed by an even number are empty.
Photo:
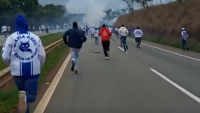
M18 15L15 19L15 28L19 34L28 34L28 24L23 15Z

